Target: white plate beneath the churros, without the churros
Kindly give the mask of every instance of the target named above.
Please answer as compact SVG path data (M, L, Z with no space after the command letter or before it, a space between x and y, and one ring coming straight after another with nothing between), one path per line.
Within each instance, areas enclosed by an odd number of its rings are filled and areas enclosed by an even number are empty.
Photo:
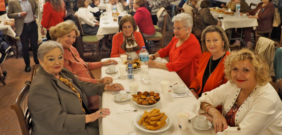
M149 111L148 111L148 112L149 112ZM166 125L164 125L164 127L160 128L160 129L158 129L158 130L148 130L145 126L143 126L143 124L140 124L140 125L138 124L138 123L139 123L139 120L142 118L143 114L144 114L144 113L138 114L138 115L134 118L134 124L135 124L135 126L136 126L138 129L142 130L142 131L149 132L149 133L158 133L158 132L163 132L163 131L167 130L167 129L170 128L171 125L172 125L172 119L170 119L169 116L166 115L166 116L167 116L167 118L166 118Z

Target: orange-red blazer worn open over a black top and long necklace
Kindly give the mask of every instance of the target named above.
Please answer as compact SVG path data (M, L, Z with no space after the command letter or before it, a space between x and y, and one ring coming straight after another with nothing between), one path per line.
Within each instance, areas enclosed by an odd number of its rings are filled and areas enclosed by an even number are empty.
M218 66L214 69L214 71L212 72L212 75L210 75L210 77L208 78L204 86L203 93L207 91L211 91L219 87L220 85L227 83L228 80L224 77L225 73L223 73L223 70L224 70L223 62L226 56L228 56L229 54L230 52L226 51L225 56L220 61ZM200 62L199 62L199 71L197 73L197 76L193 79L191 85L189 86L189 89L194 88L196 90L195 92L197 93L197 95L199 95L203 87L202 86L203 85L203 76L206 70L206 66L209 64L208 62L210 60L210 56L212 56L210 52L203 52Z

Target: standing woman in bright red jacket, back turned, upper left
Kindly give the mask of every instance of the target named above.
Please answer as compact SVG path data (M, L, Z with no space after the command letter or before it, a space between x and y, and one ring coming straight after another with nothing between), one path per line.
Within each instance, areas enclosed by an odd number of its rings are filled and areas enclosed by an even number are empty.
M46 0L46 3L43 5L41 25L47 30L47 40L51 40L49 34L50 27L63 22L65 17L66 9L63 0Z

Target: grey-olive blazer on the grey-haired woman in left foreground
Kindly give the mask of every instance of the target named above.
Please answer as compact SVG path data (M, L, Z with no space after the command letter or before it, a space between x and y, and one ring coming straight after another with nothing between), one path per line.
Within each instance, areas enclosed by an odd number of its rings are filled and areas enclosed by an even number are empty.
M79 81L66 68L60 75L73 80L72 84L80 93L86 114L90 114L86 96L97 94L102 96L105 84ZM85 113L82 111L78 96L42 68L39 68L30 85L27 104L32 118L33 135L99 134L98 120L85 124Z

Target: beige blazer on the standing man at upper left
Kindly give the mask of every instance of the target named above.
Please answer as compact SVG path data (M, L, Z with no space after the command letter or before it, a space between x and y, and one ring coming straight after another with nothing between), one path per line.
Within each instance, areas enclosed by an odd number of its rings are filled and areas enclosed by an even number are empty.
M38 16L37 2L35 0L28 0L28 1L31 5L33 15ZM20 1L19 0L9 0L8 7L9 8L8 8L7 15L9 18L15 19L16 34L20 36L22 34L22 29L24 28L24 17L19 17L19 14L18 14L22 12Z

